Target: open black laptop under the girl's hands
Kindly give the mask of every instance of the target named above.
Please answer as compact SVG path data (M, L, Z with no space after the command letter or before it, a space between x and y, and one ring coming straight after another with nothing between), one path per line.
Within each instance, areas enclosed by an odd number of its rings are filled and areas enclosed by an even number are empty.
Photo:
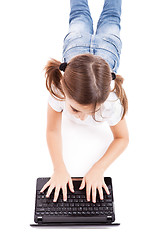
M120 223L115 223L111 177L104 177L110 194L108 195L102 188L103 200L101 200L97 189L95 203L92 202L92 191L90 201L87 201L86 186L79 190L82 177L72 177L74 193L70 191L67 184L67 201L63 201L62 189L60 189L57 201L53 202L55 189L53 189L49 198L46 198L48 188L43 193L40 193L40 190L49 179L37 178L34 224L30 224L30 226L120 225Z

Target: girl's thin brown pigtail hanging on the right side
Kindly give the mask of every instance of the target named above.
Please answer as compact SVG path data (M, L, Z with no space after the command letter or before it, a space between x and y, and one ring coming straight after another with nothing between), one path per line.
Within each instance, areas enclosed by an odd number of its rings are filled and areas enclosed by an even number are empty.
M123 116L122 116L122 119L123 119L126 112L128 111L128 99L127 99L126 93L122 87L124 78L120 75L116 75L116 78L114 79L114 81L115 81L115 86L114 86L112 92L116 93L117 97L120 99L120 102L124 108L124 112L123 112Z

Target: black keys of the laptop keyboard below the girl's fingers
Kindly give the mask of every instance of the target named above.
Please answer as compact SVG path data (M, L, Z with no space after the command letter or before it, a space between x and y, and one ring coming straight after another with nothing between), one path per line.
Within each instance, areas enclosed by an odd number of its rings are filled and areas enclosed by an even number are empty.
M96 202L93 203L92 199L87 201L85 190L79 190L72 193L67 192L67 201L63 200L62 190L60 190L57 202L53 202L54 190L50 194L49 198L46 198L47 191L40 193L36 191L36 208L35 215L37 217L43 216L107 216L107 218L113 217L113 201L112 201L112 188L109 185L108 189L110 195L103 190L103 200L99 198L97 190Z

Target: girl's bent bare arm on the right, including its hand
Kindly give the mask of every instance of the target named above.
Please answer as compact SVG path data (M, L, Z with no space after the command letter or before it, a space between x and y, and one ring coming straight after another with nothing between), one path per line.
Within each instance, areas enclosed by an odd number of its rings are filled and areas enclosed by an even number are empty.
M86 185L86 196L90 201L90 191L92 189L92 201L96 202L96 189L98 188L100 199L103 199L102 187L109 194L107 185L104 182L104 172L109 165L124 151L129 142L128 129L126 121L123 118L118 124L110 127L114 136L114 140L108 147L105 154L91 167L87 174L83 177L79 189L83 189Z

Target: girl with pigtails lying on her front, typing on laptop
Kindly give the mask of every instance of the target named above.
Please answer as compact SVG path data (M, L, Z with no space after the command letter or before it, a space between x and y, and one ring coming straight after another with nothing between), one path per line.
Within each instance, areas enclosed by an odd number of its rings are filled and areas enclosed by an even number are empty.
M87 0L70 0L69 32L64 38L63 63L51 59L45 67L46 87L50 92L47 115L47 143L54 173L43 186L49 197L55 188L57 201L62 188L67 200L67 184L72 192L73 182L62 157L62 111L80 124L100 124L107 121L114 140L103 157L83 177L80 189L86 185L86 197L96 201L98 188L103 199L102 187L109 194L103 173L128 145L125 114L128 101L122 88L123 78L116 75L119 67L121 40L121 0L105 0L96 34ZM64 72L62 75L61 71ZM111 81L114 87L111 89ZM54 147L53 147L54 146Z

